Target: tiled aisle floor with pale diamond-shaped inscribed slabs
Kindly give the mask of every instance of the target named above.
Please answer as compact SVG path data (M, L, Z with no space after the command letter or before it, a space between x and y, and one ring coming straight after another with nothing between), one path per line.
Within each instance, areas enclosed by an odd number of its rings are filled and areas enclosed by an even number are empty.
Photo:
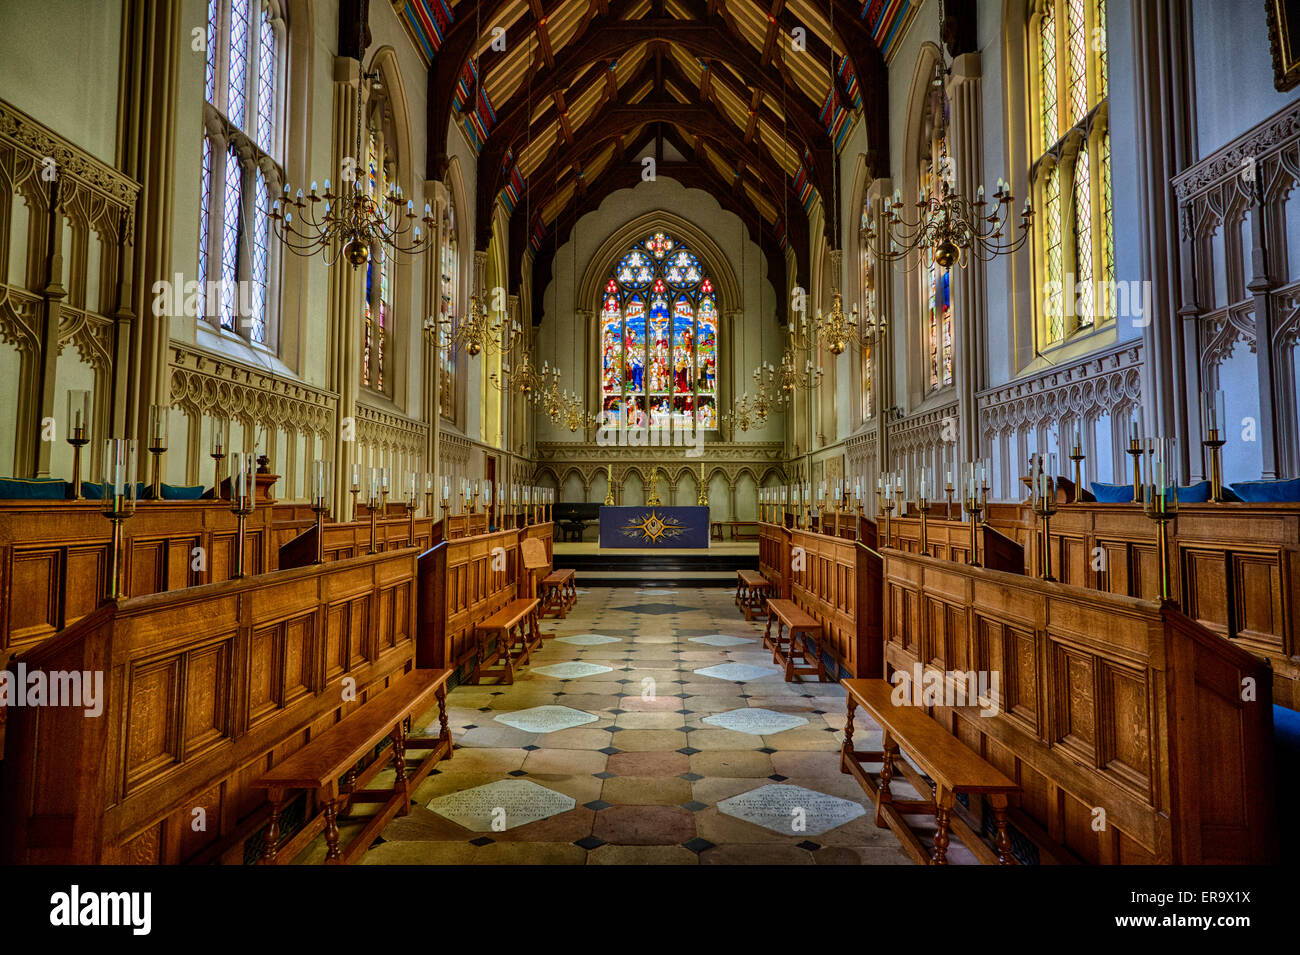
M842 690L786 683L729 591L590 589L545 629L514 686L450 694L454 758L364 861L907 861L840 773Z

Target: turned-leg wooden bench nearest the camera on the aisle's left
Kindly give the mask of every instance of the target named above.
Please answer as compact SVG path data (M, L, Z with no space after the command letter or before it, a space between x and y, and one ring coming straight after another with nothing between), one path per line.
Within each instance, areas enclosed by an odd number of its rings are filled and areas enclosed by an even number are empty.
M393 686L367 700L252 783L255 789L265 789L270 800L270 821L261 851L264 865L276 864L281 859L292 861L322 829L328 864L356 861L390 819L411 811L411 793L439 759L451 759L446 690L450 676L451 670L446 669L416 669L398 677ZM408 721L429 709L434 699L438 703L438 735L410 735ZM361 761L372 756L385 741L391 741L391 747L358 772ZM428 750L415 772L407 769L407 754L411 750ZM393 786L365 789L390 763L394 769ZM313 794L320 812L281 845L280 813L287 795L295 790ZM374 802L382 803L380 811L367 817L365 826L344 848L339 848L339 817L354 803Z

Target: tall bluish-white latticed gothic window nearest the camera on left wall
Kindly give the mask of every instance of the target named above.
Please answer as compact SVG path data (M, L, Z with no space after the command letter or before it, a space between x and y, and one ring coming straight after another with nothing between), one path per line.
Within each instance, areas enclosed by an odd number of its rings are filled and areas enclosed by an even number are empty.
M269 242L280 155L285 21L273 0L208 0L199 187L199 318L270 346Z

